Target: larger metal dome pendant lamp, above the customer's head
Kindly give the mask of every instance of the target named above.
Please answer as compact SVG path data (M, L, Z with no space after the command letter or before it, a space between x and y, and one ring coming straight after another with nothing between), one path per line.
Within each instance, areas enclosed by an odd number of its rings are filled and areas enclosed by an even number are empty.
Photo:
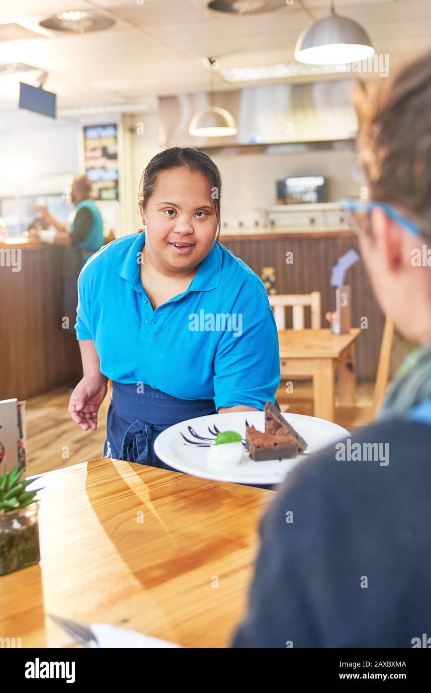
M367 32L353 19L331 12L304 30L297 40L295 58L312 65L333 65L366 60L374 53Z

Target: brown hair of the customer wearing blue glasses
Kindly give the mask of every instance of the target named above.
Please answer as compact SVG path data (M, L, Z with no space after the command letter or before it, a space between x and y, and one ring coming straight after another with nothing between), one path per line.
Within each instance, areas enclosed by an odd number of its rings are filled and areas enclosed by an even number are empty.
M431 236L431 52L383 87L359 82L358 146L374 200L393 204Z

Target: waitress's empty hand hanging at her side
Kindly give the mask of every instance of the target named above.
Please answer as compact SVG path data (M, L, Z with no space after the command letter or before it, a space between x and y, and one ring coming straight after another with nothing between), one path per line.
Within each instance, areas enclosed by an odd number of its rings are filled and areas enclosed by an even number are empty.
M77 384L69 400L71 419L84 431L98 428L98 411L107 394L107 378L102 374L84 376Z

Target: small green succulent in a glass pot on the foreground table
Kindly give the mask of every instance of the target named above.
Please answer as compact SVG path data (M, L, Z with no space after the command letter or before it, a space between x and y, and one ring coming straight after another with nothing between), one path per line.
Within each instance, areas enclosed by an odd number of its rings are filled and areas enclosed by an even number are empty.
M0 473L0 575L6 575L29 565L39 563L38 504L35 495L40 489L27 491L39 477L20 477L24 465Z

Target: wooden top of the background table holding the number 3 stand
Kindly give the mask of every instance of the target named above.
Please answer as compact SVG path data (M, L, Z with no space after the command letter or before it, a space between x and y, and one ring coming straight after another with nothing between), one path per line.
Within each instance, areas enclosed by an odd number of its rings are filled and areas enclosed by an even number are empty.
M280 358L339 358L362 330L334 335L331 330L279 330Z

